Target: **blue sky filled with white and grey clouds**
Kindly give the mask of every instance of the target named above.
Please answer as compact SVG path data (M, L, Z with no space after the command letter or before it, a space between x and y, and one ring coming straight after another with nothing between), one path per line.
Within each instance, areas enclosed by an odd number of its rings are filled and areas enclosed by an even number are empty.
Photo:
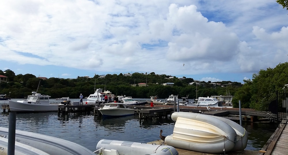
M287 62L287 14L275 0L0 1L0 70L244 83Z

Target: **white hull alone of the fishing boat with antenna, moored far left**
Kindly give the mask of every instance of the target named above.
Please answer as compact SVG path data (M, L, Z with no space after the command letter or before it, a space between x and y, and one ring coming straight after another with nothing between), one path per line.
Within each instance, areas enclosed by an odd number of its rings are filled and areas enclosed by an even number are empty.
M61 104L37 104L28 102L18 102L9 100L9 110L11 112L48 112L58 111L58 106Z

